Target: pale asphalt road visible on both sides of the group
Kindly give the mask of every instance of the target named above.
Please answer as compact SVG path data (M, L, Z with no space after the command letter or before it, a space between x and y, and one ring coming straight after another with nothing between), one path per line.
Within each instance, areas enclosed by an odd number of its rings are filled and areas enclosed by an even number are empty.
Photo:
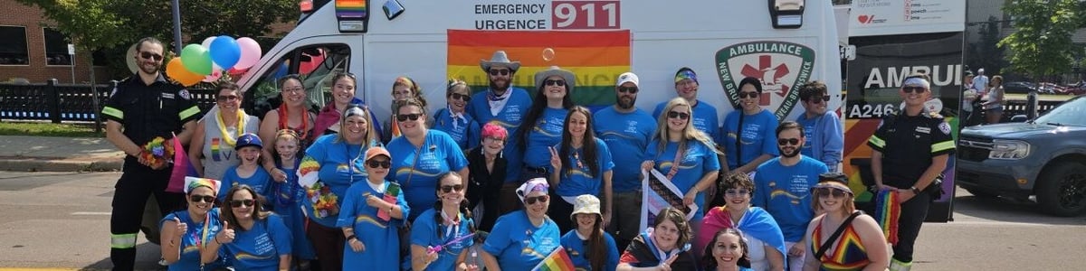
M106 270L110 201L119 173L0 171L0 271ZM958 191L955 221L927 223L915 270L1082 270L1086 216L1057 218L1034 206ZM139 270L160 269L142 236Z

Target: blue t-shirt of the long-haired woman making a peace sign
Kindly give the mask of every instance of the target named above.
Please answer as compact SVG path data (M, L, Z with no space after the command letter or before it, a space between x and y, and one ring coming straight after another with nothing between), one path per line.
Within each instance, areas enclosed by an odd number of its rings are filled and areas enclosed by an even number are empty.
M556 147L557 151L557 147ZM607 144L603 140L596 139L596 165L599 172L596 175L592 173L592 168L584 163L584 149L574 149L573 155L566 157L565 163L569 163L572 172L561 172L561 182L558 186L554 189L555 193L559 196L579 196L579 195L594 195L599 197L599 189L603 188L603 176L604 172L610 171L615 168L615 163L611 162L610 151L607 150ZM559 169L560 170L560 169Z

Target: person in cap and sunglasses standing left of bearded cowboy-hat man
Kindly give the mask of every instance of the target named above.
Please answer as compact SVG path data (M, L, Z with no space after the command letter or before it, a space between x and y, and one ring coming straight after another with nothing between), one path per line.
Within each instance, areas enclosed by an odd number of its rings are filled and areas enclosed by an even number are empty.
M467 152L479 145L479 122L467 114L468 102L471 102L471 89L464 80L453 79L445 89L445 108L433 114L433 129L449 133Z

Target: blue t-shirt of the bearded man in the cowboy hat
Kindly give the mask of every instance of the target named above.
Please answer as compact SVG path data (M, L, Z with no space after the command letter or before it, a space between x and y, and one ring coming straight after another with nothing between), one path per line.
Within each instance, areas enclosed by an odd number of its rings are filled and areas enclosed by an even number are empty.
M488 98L491 92L490 89L471 95L471 102L468 103L467 107L468 115L471 115L476 121L479 121L479 127L485 124L494 124L504 127L509 136L517 134L517 129L525 121L528 108L532 106L532 98L528 95L528 91L521 88L509 87L507 91L512 91L512 93L509 93L508 98L505 98L508 101L505 102L505 106L497 114L494 114L490 109L490 98ZM505 150L502 150L502 156L508 162L508 167L505 168L506 183L521 182L518 179L520 178L523 150L517 147L518 142L520 142L520 139L508 137L505 142Z

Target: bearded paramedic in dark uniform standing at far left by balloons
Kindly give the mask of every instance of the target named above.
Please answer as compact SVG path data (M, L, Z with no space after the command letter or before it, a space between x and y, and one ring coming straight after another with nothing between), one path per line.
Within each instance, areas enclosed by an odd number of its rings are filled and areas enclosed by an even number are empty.
M162 214L180 207L184 195L165 191L169 180L168 165L152 168L142 157L143 145L155 137L188 143L195 128L200 108L181 86L167 81L159 70L163 44L154 38L136 43L135 75L117 83L102 108L106 119L105 139L125 152L124 173L114 185L113 215L110 217L113 270L132 270L136 260L136 236L143 217L143 205L154 193ZM172 139L172 132L177 133Z

